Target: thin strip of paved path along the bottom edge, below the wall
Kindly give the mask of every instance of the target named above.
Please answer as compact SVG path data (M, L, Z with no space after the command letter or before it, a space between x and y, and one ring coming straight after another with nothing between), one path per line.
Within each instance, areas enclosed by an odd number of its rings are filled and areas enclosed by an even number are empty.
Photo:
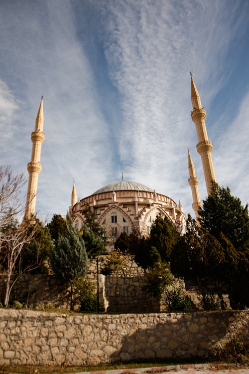
M233 364L171 365L156 368L107 370L74 374L249 374L249 366Z

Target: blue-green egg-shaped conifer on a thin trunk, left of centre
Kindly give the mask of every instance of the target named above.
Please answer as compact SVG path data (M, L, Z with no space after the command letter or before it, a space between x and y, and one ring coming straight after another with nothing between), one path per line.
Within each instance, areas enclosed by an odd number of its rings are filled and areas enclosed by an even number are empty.
M83 239L70 223L66 226L65 236L59 234L49 260L54 275L63 283L71 285L73 309L73 282L87 272L87 253Z

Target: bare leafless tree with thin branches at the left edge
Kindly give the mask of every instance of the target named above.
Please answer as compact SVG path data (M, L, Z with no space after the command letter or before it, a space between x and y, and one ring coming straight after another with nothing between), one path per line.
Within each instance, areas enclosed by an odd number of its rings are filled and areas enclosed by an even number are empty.
M25 243L36 233L36 220L22 219L25 203L21 198L26 181L23 174L13 176L11 168L0 166L0 259L6 275L4 306L9 302L11 290L18 279L18 259ZM15 276L12 275L15 273Z

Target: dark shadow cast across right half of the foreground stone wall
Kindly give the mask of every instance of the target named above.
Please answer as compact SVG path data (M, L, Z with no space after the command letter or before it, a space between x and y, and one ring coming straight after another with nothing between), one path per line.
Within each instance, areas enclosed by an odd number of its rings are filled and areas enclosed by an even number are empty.
M121 339L122 348L111 355L111 362L207 358L213 348L229 341L234 334L246 341L249 339L247 313L243 319L241 312L166 316L164 323L160 321L160 314L144 317L138 328L135 317L132 327L131 318L129 334Z

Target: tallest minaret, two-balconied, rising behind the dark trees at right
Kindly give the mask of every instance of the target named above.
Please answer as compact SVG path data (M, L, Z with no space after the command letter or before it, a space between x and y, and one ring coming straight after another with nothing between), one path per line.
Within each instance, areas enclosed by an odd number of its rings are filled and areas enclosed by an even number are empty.
M203 171L207 186L208 194L211 192L211 182L215 181L215 171L213 167L213 161L211 156L211 151L213 149L212 143L208 140L208 134L206 130L206 111L202 108L201 99L197 91L195 82L191 75L191 101L193 106L193 111L191 112L191 118L196 125L196 131L199 143L197 144L197 152L201 155Z

